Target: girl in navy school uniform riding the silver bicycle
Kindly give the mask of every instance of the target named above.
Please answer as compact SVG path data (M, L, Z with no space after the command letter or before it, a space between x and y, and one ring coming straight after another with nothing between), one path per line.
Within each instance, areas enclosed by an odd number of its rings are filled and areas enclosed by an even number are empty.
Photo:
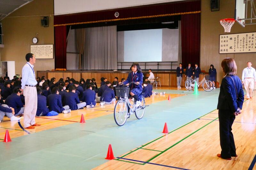
M142 92L142 83L143 83L143 74L140 68L139 63L133 63L131 68L132 72L129 73L127 79L123 82L124 85L129 85L130 82L136 82L135 84L130 84L130 94L129 100L131 101L132 97L136 100L135 107L139 107L141 104L141 92ZM119 82L119 84L122 84Z

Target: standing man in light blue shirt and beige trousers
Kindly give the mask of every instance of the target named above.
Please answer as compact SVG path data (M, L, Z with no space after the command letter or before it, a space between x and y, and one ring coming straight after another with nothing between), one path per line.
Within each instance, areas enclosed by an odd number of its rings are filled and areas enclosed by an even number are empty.
M22 68L21 90L25 96L24 109L24 128L34 129L34 126L40 126L35 121L37 110L37 91L36 91L36 74L34 71L34 64L36 58L34 54L28 53L26 55L27 63Z

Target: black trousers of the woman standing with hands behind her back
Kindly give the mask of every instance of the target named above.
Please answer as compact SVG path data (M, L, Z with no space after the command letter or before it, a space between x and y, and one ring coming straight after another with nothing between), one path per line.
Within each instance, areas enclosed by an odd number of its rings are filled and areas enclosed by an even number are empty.
M236 116L230 110L219 110L221 158L236 156L232 124Z

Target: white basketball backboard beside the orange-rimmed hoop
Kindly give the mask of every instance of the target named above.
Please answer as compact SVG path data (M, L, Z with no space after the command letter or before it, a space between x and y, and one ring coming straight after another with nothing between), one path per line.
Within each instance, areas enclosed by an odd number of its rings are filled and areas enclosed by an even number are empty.
M235 20L241 26L245 26L245 0L236 0Z

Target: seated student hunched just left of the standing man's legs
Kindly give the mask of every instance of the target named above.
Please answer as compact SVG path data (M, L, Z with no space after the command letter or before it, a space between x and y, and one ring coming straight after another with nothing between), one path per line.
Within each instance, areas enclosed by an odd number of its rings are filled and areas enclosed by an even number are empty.
M9 107L14 108L15 116L18 116L18 115L24 113L25 107L24 107L23 103L21 102L20 94L21 94L21 91L20 91L19 87L16 87L13 90L13 93L10 96L8 96L4 102Z

